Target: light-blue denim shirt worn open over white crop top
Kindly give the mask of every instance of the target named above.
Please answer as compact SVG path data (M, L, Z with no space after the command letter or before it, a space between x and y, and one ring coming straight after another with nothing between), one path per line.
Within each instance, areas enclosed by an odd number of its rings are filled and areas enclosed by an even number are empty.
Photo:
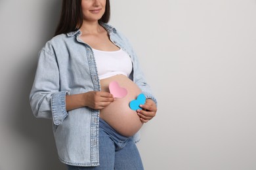
M114 27L100 24L108 31L110 41L129 54L133 63L129 78L147 99L156 103L131 44ZM96 166L99 165L100 110L89 107L66 110L66 95L100 91L93 50L79 39L80 35L80 30L57 35L41 49L30 92L30 105L35 117L53 120L54 139L62 163ZM139 138L139 132L133 136L135 142Z

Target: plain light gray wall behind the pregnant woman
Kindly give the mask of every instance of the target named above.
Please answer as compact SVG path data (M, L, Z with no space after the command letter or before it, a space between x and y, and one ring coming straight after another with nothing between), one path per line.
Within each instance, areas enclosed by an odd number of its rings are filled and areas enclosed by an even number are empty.
M60 4L0 0L1 170L65 168L28 101ZM138 144L146 170L256 169L255 20L255 0L112 0L159 101Z

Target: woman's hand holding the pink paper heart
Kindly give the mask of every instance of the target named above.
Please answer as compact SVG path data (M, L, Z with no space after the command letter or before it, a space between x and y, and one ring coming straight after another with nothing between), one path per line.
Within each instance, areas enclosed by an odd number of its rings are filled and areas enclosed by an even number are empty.
M114 101L114 97L108 92L91 91L84 93L85 105L92 109L101 110L110 105Z

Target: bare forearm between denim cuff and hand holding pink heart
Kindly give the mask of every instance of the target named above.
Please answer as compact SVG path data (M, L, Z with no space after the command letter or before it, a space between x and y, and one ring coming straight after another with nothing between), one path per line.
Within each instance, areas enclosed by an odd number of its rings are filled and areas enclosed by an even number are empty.
M66 110L78 109L85 107L85 93L79 93L74 95L66 95Z

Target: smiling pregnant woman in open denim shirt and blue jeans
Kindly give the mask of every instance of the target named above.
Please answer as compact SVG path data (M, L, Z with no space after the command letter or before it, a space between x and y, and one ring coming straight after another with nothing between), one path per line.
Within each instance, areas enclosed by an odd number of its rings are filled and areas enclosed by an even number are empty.
M143 169L135 143L156 115L156 99L109 18L109 0L63 0L56 36L39 52L30 103L36 117L53 120L68 169ZM134 109L138 96L145 99Z

